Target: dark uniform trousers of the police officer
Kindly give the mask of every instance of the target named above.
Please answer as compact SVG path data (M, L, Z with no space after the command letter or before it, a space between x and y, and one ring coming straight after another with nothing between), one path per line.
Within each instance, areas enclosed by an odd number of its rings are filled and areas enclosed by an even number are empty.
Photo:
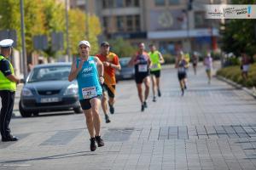
M15 105L15 92L0 90L2 108L0 112L0 131L2 138L7 138L10 134L9 122L13 114Z

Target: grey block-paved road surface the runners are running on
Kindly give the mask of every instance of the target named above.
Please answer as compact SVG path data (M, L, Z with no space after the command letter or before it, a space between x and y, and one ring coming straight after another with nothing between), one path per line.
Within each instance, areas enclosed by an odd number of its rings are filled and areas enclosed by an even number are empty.
M201 67L182 97L177 72L162 72L162 97L140 111L134 81L117 85L106 146L90 152L82 114L15 117L20 140L0 142L0 169L256 169L256 100ZM101 113L102 114L102 113ZM102 114L103 118L103 114Z

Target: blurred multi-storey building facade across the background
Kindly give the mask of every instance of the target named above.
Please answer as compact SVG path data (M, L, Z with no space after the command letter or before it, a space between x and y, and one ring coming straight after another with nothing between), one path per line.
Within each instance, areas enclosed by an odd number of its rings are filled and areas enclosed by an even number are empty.
M107 40L123 37L132 44L153 42L163 54L175 54L180 49L218 49L219 20L205 19L206 3L227 0L71 0L70 5L96 14Z

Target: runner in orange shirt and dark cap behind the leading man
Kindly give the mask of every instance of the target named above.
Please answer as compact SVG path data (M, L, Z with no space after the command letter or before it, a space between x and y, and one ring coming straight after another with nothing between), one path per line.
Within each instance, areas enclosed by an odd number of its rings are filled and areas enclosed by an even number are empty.
M107 110L107 93L108 93L108 105L111 114L114 113L114 94L115 94L115 70L121 70L121 65L119 64L119 57L117 54L109 52L109 43L101 43L101 54L96 54L96 56L101 59L104 65L104 83L102 84L103 98L102 98L102 110L105 114L106 122L110 122Z

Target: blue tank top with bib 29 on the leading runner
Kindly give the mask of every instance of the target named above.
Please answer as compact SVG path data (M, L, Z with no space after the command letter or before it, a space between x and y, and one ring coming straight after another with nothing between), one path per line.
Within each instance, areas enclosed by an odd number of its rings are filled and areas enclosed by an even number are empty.
M77 67L79 67L80 60L80 58L77 59ZM98 77L96 61L92 56L87 61L84 61L77 81L79 84L79 99L91 99L97 95L102 95L102 86Z

